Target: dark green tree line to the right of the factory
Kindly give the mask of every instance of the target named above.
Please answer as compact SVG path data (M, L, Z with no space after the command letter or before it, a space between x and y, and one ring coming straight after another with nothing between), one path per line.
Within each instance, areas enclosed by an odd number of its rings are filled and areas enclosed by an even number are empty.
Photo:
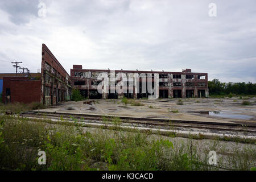
M208 88L209 94L211 96L214 95L228 95L229 93L232 94L249 94L255 95L256 94L256 84L248 82L220 82L218 79L213 79L212 81L208 81Z

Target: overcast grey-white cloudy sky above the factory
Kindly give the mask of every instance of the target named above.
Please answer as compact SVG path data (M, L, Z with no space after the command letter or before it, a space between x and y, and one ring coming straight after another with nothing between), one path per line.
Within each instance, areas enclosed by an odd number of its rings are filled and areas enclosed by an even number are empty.
M11 61L36 72L44 43L68 73L73 64L191 68L209 80L256 82L255 0L1 0L0 40L0 73L15 72Z

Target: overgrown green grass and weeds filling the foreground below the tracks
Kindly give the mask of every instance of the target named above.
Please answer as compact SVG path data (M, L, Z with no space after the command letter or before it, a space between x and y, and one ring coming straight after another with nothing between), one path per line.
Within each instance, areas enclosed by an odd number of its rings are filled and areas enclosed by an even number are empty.
M255 167L255 147L234 144L232 154L218 141L200 146L192 140L154 137L121 130L82 130L79 126L31 122L0 115L1 170L249 170ZM121 122L112 118L115 125ZM222 148L223 147L223 148ZM223 150L223 154L221 150ZM38 164L38 151L46 165ZM210 150L221 154L217 166L208 164Z

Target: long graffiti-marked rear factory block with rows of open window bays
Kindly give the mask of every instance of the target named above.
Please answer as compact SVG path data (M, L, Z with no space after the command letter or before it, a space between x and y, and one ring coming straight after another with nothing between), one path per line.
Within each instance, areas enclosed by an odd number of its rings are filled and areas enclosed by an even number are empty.
M97 92L97 86L101 80L98 80L98 75L105 73L110 77L110 70L107 69L82 69L82 65L73 65L71 69L71 80L74 88L79 89L82 96L85 98L143 98L148 97L149 94L142 93L142 81L152 81L152 87L158 86L158 90L155 90L155 98L189 98L189 97L208 97L208 74L207 73L192 73L191 69L184 69L182 72L153 72L153 71L124 71L115 70L115 73L124 73L131 78L126 81L127 92L117 93L99 93ZM146 75L146 80L142 77L139 78L139 90L135 92L135 84L133 88L129 88L129 81L135 83L135 74ZM152 78L148 78L147 74L151 74ZM158 75L158 79L154 79L154 75ZM109 78L110 80L110 78ZM119 80L115 80L115 85ZM109 86L110 88L110 86ZM146 86L147 88L147 86ZM133 93L129 93L129 89L133 90Z

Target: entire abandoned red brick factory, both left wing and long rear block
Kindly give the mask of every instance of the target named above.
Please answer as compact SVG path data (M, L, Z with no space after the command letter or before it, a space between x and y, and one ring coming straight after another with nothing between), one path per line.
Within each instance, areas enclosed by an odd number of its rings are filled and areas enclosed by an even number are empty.
M98 92L98 85L102 81L98 80L98 75L105 73L110 77L110 72L109 69L82 69L82 65L73 65L69 76L53 53L45 44L42 44L41 72L28 75L1 73L0 93L5 104L41 102L46 105L71 100L72 88L79 89L85 98L143 98L150 97L152 94L154 98L208 97L208 74L193 73L191 69L184 69L182 72L116 70L115 73L122 73L129 77L125 83L127 93L118 93L117 90ZM150 74L152 77L147 76ZM136 85L135 75L146 75L146 80L139 77L139 85ZM115 85L119 81L121 81L120 78L115 79ZM130 81L134 83L131 88ZM147 89L146 93L142 92L142 85L147 85L148 82L152 82L154 93L148 93ZM104 90L108 87L101 86L101 88Z

